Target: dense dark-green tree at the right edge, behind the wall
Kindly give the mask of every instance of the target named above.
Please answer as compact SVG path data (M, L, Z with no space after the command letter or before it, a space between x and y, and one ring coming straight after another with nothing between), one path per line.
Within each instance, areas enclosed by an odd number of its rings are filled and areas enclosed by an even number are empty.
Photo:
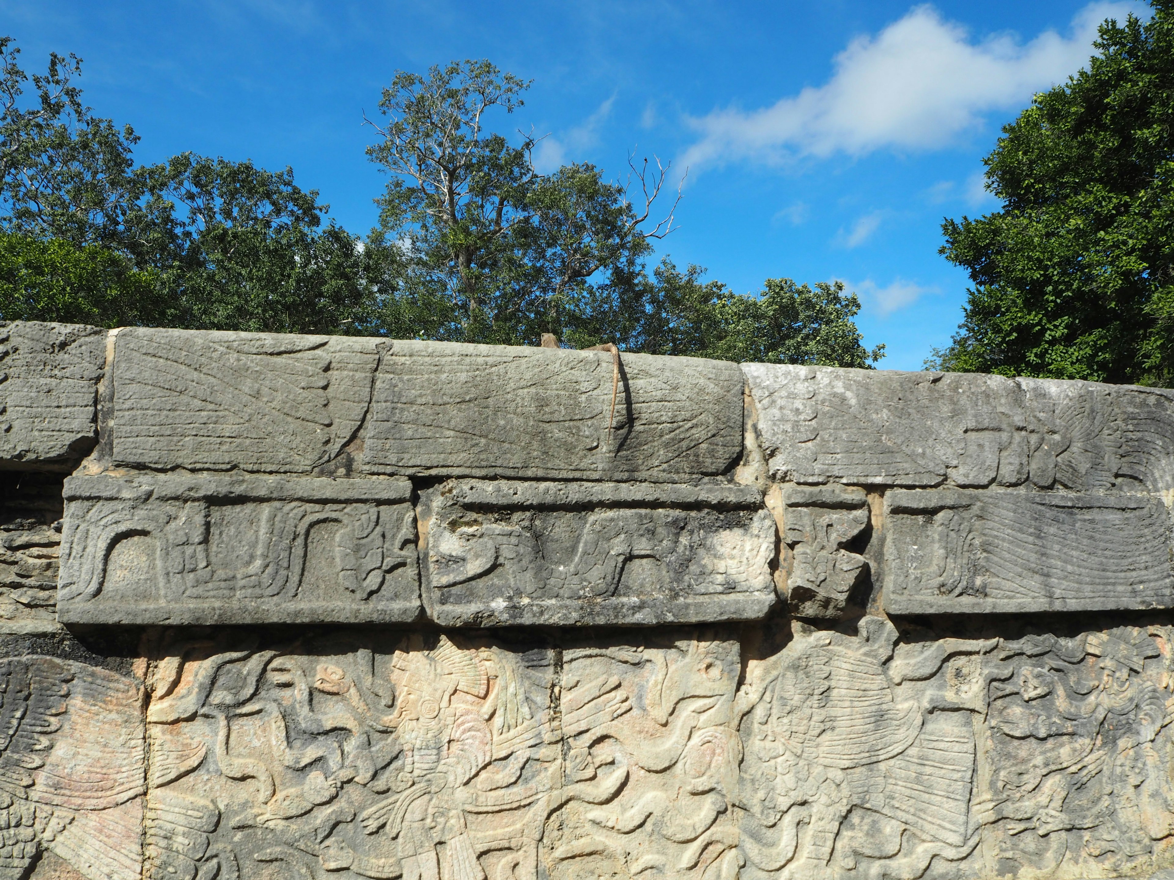
M1058 379L1174 378L1174 4L1108 20L1087 69L984 162L999 211L943 224L973 282L926 366Z

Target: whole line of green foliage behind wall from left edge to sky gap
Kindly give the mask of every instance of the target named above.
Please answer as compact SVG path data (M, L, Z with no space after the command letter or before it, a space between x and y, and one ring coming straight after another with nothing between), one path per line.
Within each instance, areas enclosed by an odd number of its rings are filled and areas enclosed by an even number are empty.
M628 188L586 163L539 174L533 137L486 129L527 83L487 61L399 73L367 155L389 174L365 241L316 191L194 154L135 165L137 137L94 116L50 56L28 77L0 40L0 318L535 345L869 366L843 286L768 280L758 296L668 260L649 272L667 180ZM25 99L32 84L32 95ZM675 207L675 205L674 205Z

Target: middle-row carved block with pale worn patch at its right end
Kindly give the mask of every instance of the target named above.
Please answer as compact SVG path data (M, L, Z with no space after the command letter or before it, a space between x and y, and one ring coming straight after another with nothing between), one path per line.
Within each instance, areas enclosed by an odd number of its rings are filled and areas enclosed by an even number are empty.
M441 625L754 620L775 602L751 487L450 481L425 500Z

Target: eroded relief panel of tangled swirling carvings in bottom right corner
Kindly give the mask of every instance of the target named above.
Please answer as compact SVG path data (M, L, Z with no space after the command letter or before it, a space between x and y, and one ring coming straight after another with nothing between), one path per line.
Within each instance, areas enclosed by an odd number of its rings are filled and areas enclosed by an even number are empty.
M998 873L1119 876L1174 833L1169 627L1001 641L978 764Z

